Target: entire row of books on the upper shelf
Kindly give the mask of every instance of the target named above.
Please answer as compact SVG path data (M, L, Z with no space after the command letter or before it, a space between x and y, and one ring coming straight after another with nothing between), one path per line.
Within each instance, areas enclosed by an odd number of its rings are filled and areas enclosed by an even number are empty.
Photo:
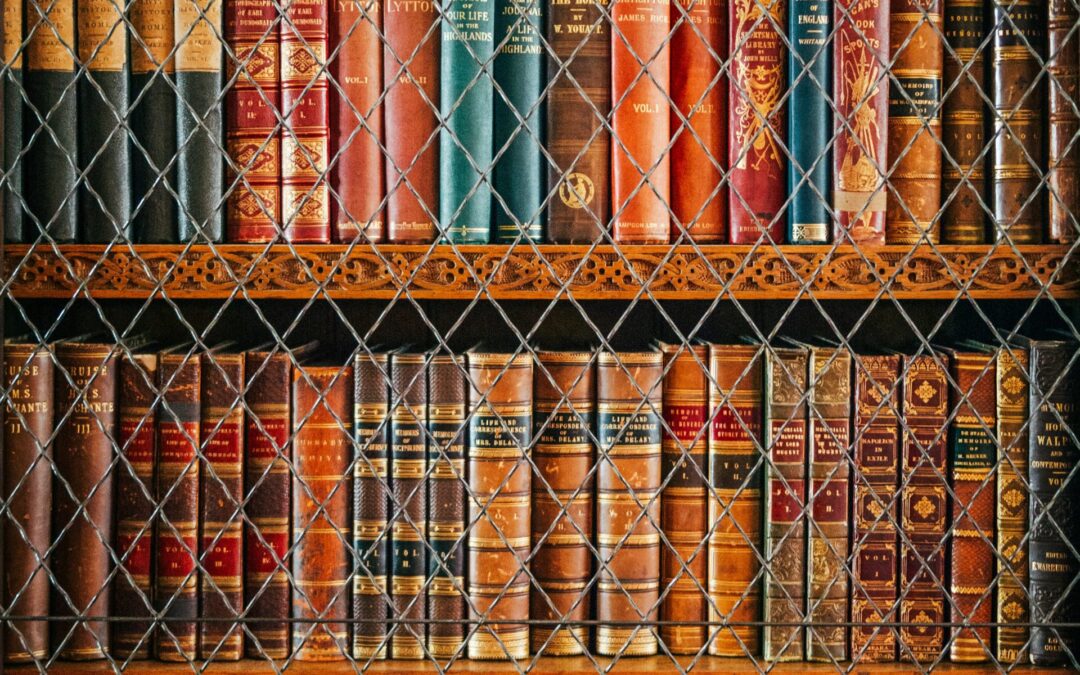
M1068 1L140 0L127 19L9 4L9 240L1080 230Z

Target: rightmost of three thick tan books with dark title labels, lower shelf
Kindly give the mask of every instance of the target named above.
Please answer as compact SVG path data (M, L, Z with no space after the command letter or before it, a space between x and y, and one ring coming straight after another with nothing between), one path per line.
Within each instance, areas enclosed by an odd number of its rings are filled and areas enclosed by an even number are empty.
M596 366L596 652L657 653L663 361L600 352ZM636 625L635 625L636 624Z

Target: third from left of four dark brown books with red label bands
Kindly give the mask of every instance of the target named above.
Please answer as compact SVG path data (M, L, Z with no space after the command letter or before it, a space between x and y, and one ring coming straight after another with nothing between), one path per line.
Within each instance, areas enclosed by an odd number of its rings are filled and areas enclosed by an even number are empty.
M199 437L199 658L237 661L244 653L244 356L202 355Z

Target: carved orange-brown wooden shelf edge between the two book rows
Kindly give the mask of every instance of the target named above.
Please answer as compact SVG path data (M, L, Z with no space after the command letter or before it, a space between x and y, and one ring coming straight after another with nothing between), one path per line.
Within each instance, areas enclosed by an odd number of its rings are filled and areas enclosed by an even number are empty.
M659 299L794 298L807 280L804 295L868 299L881 289L870 266L903 299L951 299L966 284L974 298L1034 298L1051 278L1051 295L1080 297L1080 254L1018 248L1024 261L1008 246L881 246L864 251L868 266L850 246L623 246L620 256L612 246L138 245L136 257L126 245L72 244L60 255L8 245L3 264L18 298L70 298L83 284L97 298L225 298L242 281L252 298L308 299L323 285L334 298L387 299L405 285L418 299L472 299L487 282L497 299L551 299L566 285L579 300L612 300L639 294L636 273Z

